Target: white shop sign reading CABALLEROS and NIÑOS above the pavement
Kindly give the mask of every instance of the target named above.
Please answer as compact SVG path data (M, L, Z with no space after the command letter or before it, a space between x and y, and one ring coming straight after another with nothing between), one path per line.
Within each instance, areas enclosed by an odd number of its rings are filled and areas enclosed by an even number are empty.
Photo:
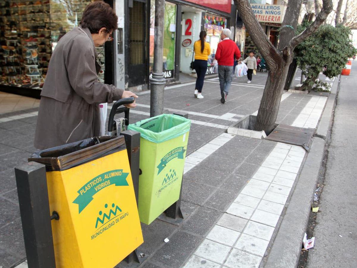
M283 5L251 5L251 7L259 22L281 24L283 21Z

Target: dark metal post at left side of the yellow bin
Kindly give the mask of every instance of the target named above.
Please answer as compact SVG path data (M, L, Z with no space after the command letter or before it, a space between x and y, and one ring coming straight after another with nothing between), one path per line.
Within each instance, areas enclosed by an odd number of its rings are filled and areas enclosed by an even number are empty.
M29 268L56 268L45 165L15 168L22 231Z

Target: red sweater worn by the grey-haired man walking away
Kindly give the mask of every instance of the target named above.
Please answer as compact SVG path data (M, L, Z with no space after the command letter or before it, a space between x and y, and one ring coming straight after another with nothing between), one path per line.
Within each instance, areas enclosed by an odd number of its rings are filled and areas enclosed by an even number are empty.
M234 56L237 59L241 57L241 51L239 51L239 48L234 41L226 39L218 43L215 56L218 65L233 66Z

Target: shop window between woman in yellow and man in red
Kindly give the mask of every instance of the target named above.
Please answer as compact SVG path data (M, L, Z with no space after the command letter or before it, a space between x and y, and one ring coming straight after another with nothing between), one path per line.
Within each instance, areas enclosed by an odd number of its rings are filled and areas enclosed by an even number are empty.
M226 27L226 18L211 14L205 15L205 31L207 32L206 41L210 43L211 46L211 55L208 57L208 68L206 74L214 74L218 71L218 63L215 60L215 55L218 43L221 40L221 31Z

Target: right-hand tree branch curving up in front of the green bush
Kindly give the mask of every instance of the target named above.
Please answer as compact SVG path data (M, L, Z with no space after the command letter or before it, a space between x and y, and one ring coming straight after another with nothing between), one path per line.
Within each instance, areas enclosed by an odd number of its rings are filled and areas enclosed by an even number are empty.
M316 17L315 21L310 24L301 34L295 36L290 41L290 48L295 48L299 43L305 40L308 36L314 33L318 27L326 20L328 14L332 10L332 0L323 0L321 12Z

